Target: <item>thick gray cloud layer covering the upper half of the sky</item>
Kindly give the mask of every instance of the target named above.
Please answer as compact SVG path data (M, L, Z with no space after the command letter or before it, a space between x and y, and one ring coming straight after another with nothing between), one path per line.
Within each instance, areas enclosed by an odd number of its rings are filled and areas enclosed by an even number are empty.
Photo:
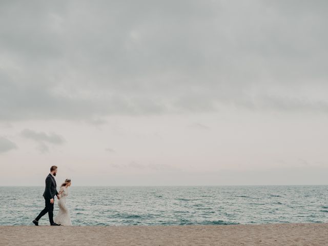
M0 120L328 112L325 1L0 3Z

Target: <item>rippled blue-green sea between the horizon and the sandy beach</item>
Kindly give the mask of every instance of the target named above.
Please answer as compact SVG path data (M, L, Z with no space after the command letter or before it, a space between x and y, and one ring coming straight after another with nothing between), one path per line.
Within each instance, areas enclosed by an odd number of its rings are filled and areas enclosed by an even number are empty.
M80 226L328 222L328 186L69 189L72 223ZM43 191L0 187L0 225L32 225L44 208ZM39 224L49 224L48 215Z

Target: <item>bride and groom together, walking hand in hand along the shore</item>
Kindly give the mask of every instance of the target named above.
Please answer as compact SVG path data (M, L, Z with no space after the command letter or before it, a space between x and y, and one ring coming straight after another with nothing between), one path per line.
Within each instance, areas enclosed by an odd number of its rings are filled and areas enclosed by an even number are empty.
M71 179L65 179L61 184L59 192L57 192L57 184L55 176L57 174L57 167L52 166L50 168L50 173L46 178L46 188L43 193L43 197L46 201L46 207L40 212L40 214L32 221L35 226L38 226L39 219L44 216L46 213L49 215L49 221L51 226L71 226L71 217L70 213L66 206L66 197L68 196L68 188L71 186ZM53 218L53 205L54 199L57 196L59 212Z

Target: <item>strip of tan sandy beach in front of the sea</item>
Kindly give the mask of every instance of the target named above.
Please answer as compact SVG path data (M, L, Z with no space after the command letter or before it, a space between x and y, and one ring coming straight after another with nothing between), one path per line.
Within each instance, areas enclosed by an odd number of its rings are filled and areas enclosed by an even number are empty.
M50 236L51 235L51 236ZM328 245L328 223L229 226L1 226L0 245Z

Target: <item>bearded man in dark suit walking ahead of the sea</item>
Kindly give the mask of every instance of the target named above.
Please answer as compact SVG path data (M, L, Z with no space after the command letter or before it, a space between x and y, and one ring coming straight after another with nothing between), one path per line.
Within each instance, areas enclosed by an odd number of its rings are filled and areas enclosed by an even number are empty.
M60 224L56 224L53 221L53 203L54 203L55 195L59 199L59 195L58 195L57 188L56 188L57 184L56 184L56 180L55 180L56 174L57 174L57 167L52 166L50 168L50 173L46 178L46 188L45 188L45 192L43 193L43 197L45 198L45 201L46 201L46 207L32 221L35 224L35 226L39 225L39 223L38 223L39 219L42 216L44 216L46 213L48 213L48 215L49 215L49 221L50 221L51 226L60 226Z

